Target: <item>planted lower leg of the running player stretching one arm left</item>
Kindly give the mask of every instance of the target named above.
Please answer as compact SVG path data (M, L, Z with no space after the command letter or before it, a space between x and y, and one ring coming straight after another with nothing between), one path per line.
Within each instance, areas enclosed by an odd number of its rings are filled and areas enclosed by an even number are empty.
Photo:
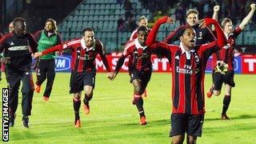
M73 97L73 107L74 107L74 126L81 127L79 109L81 106L81 92L75 93Z

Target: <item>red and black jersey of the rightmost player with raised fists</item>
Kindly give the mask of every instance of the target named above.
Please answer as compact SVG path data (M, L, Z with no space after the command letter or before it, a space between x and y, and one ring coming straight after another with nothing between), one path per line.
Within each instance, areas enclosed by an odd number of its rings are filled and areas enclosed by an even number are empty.
M228 70L234 70L234 46L235 46L235 38L241 34L242 30L240 27L236 27L233 33L229 34L226 37L227 44L223 46L221 50L218 50L213 54L213 68L217 65L217 61L223 61L228 65Z

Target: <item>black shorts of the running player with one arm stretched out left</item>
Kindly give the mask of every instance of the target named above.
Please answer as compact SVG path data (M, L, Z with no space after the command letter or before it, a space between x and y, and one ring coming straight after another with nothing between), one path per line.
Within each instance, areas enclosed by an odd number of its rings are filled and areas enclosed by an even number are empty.
M96 70L78 73L76 70L70 76L70 94L78 93L84 86L95 86Z

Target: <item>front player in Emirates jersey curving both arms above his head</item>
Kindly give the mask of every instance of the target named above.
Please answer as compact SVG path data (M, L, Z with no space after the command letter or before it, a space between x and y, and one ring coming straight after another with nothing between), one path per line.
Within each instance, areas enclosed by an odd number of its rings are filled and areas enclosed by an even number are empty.
M146 39L146 46L170 51L172 69L172 114L171 131L173 143L182 143L187 134L187 143L195 143L202 135L205 113L204 76L206 62L211 54L226 45L225 35L214 19L205 18L201 26L214 24L218 40L202 46L195 46L196 33L192 26L182 30L180 45L156 42L156 35L162 23L172 22L171 18L160 18Z

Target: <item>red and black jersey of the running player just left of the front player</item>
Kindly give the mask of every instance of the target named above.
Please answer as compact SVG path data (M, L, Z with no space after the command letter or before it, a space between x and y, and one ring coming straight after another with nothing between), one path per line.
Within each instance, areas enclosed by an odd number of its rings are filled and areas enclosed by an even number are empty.
M129 69L150 70L152 67L151 50L147 46L142 46L138 38L126 43L122 57L129 56Z

